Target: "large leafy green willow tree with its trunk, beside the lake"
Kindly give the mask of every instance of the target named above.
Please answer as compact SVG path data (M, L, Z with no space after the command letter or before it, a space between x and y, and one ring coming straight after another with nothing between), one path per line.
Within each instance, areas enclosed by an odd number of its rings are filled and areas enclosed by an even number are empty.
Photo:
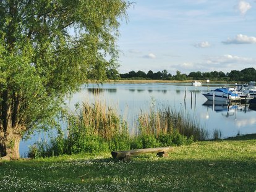
M105 78L127 7L125 0L1 0L2 159L19 158L22 136L53 122L66 94Z

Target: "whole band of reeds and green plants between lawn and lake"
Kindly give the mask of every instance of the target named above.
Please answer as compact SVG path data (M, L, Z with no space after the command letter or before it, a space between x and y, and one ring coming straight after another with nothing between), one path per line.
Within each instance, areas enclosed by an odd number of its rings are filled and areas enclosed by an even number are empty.
M83 102L69 115L67 125L67 133L59 131L56 138L30 146L28 157L180 146L208 136L195 118L169 106L152 106L150 112L141 112L137 127L129 128L113 107L102 101Z

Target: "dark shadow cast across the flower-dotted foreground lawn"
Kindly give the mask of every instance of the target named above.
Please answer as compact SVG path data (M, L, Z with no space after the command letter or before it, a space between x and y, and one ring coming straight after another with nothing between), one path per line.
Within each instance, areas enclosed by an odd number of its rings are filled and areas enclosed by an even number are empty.
M85 191L254 191L256 182L252 159L178 160L141 156L130 162L114 162L110 158L45 162L41 166L32 162L30 167L25 162L19 162L19 167L11 162L3 164L0 173L15 172L15 177L9 174L1 182L0 176L0 189L6 186L9 191L29 190L30 184L36 183L34 188L38 191L61 191L58 186L65 186L66 191L70 186L77 191L82 188ZM24 183L14 185L22 178L26 178Z

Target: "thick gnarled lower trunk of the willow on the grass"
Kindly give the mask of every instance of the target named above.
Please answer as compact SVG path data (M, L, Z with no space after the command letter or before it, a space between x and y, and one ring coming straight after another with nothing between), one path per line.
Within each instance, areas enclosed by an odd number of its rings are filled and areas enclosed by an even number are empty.
M11 132L0 133L0 159L19 159L19 146L22 136L19 133L15 133L15 130L11 128Z

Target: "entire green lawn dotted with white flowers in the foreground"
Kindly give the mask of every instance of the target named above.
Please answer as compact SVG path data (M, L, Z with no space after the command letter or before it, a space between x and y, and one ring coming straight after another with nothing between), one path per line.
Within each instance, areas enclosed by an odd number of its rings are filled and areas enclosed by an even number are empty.
M256 135L129 162L108 154L0 162L0 191L256 191Z

